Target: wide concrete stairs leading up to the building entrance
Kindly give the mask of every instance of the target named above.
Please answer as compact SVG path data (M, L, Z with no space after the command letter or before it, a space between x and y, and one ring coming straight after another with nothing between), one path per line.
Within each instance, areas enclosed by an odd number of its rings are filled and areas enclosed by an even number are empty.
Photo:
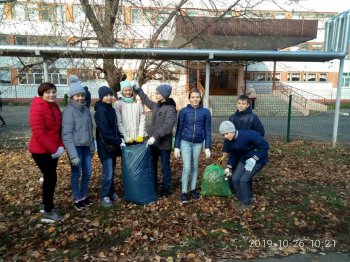
M210 96L209 106L213 117L230 116L236 111L237 96ZM258 116L288 116L288 102L277 95L258 94L254 112ZM302 116L292 107L292 116Z

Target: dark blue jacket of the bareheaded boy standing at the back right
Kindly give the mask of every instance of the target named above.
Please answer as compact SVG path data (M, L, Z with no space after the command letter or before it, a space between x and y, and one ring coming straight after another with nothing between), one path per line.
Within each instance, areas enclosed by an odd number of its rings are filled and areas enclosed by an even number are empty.
M265 136L265 129L259 117L253 113L251 107L248 107L243 112L238 110L232 114L229 119L237 130L254 130L261 136Z

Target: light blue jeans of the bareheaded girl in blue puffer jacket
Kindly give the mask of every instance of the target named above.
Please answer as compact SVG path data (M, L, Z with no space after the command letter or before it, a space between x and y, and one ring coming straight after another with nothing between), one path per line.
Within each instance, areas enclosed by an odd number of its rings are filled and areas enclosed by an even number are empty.
M187 193L188 180L191 177L191 190L196 189L198 176L198 162L202 150L202 143L192 143L181 140L182 154L182 193Z

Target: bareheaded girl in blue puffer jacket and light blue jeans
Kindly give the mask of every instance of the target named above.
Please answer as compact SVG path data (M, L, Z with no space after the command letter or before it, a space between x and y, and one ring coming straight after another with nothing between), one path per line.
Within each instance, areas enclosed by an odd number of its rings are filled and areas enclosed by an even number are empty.
M205 156L210 158L211 147L211 115L202 105L201 94L198 89L192 89L188 94L190 104L181 109L177 121L175 135L174 156L180 157L182 153L182 203L188 202L188 180L191 177L192 199L197 200L199 194L196 191L198 162L205 140Z

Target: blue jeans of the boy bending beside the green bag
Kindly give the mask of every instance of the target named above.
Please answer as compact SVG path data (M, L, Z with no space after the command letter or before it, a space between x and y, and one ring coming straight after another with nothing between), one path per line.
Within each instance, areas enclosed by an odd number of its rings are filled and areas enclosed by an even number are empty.
M251 203L253 197L251 183L255 174L264 166L255 164L251 172L244 169L245 163L238 162L232 174L232 184L237 193L237 198L245 205Z

